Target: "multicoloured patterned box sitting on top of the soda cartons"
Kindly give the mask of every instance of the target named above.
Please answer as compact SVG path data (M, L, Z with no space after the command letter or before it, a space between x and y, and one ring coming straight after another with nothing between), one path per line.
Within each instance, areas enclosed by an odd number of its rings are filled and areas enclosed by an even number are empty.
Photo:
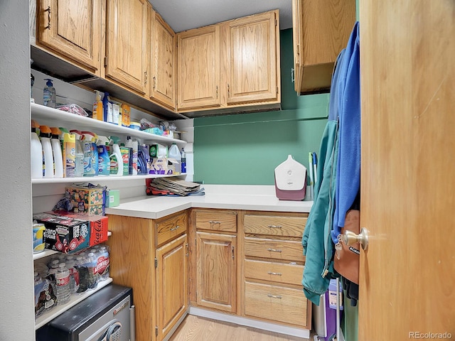
M74 212L89 215L105 214L106 188L100 186L68 186L65 197L73 204Z

